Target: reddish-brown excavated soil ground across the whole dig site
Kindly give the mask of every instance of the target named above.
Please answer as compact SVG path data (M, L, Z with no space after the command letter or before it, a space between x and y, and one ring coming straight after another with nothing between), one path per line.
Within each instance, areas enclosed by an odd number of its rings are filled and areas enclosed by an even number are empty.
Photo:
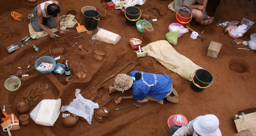
M7 1L4 1L7 3ZM78 1L59 1L61 15L73 14L77 21L81 20L81 25L84 25L84 17L81 13L81 8L84 6L96 7L100 12L101 20L98 22L98 27L109 30L121 36L121 40L116 45L103 43L94 40L91 44L89 39L93 34L97 33L97 29L92 30L92 34L77 33L76 30L70 30L66 35L61 35L61 38L54 39L49 36L40 38L33 43L21 47L17 51L9 54L6 47L15 42L20 41L25 36L29 35L27 14L32 12L32 9L39 3L44 2L38 0L35 3L29 3L25 0L20 2L12 1L9 4L3 5L1 9L1 46L0 46L0 105L1 111L3 105L6 106L7 114L14 113L17 117L21 114L17 111L17 103L24 100L31 88L39 88L45 83L49 84L46 90L46 96L43 99L58 99L61 98L61 105L68 105L75 98L75 89L81 89L81 93L87 99L93 96L90 88L94 89L101 86L97 91L101 94L101 98L96 98L99 106L105 106L110 109L109 116L104 122L96 121L93 116L92 124L88 124L81 118L78 120L77 125L74 127L65 127L63 125L63 112L60 113L57 121L53 127L46 127L35 124L30 118L30 123L27 126L20 125L21 129L11 131L14 136L22 135L169 135L167 119L173 114L182 114L188 121L193 120L197 116L205 114L215 114L220 122L219 128L222 135L233 135L237 133L235 123L233 121L234 114L240 114L241 111L247 113L255 112L255 51L239 50L237 48L248 48L242 44L233 45L230 41L233 40L228 34L225 36L223 33L224 27L216 27L215 25L222 20L238 20L241 21L242 17L247 17L249 20L255 21L255 7L248 12L239 14L239 18L235 16L225 16L227 9L223 8L229 3L227 1L220 1L220 5L214 1L210 1L212 6L207 7L209 15L215 15L213 25L197 26L195 21L192 20L190 26L193 30L197 31L200 35L205 37L204 41L200 38L193 40L190 38L191 32L185 33L178 38L178 44L173 46L175 50L186 57L188 57L195 64L210 71L214 77L213 84L197 93L190 88L191 81L185 80L178 74L167 70L154 58L147 56L144 58L136 58L134 51L137 49L131 48L128 41L130 38L141 38L142 33L139 32L135 26L128 26L125 23L125 17L121 11L114 9L103 9L106 1L101 4L100 1L78 0ZM143 46L148 43L166 40L166 33L168 32L168 25L175 21L175 12L167 8L172 0L147 0L142 6L136 6L141 9L142 13L150 13L152 18L158 21L153 22L148 20L154 27L154 36L150 41L143 41ZM219 2L219 1L218 1ZM253 1L251 2L253 5ZM214 3L214 4L213 4ZM231 5L234 3L231 3ZM217 10L216 10L217 9ZM245 6L242 6L243 11L247 11ZM10 12L15 11L24 15L23 21L14 21L10 16ZM106 11L106 14L105 14ZM216 12L215 12L216 11ZM225 14L221 14L225 12ZM218 13L218 14L216 14ZM251 15L254 14L254 15ZM243 38L249 39L250 34L255 33L255 25L248 31ZM201 33L204 30L204 33ZM56 33L58 35L58 33ZM81 38L74 38L82 36ZM207 49L211 41L222 44L221 50L217 59L206 56ZM91 54L79 50L77 47L71 47L75 42L78 42L88 51L99 50L105 53L104 58L100 61L93 57L94 52ZM35 44L40 53L36 53L32 44ZM78 77L73 77L72 81L67 82L65 75L57 75L54 72L51 74L41 74L33 69L26 69L28 65L33 66L36 59L41 56L51 56L49 49L64 48L63 56L71 63L72 77L78 72L86 73L86 78L81 80ZM43 53L46 51L45 53ZM43 54L41 54L43 53ZM41 55L39 55L41 54ZM77 67L76 62L81 63ZM182 60L181 60L182 61ZM63 63L63 62L60 62ZM64 63L63 63L64 64ZM124 67L127 64L127 67ZM151 72L155 74L166 74L174 81L173 85L179 94L179 103L164 103L163 105L157 102L150 101L147 103L140 103L141 107L132 107L122 110L113 111L113 109L132 106L129 101L123 101L121 104L116 105L114 100L120 96L129 95L129 91L115 92L108 95L108 86L113 85L114 78L110 78L107 82L101 83L115 74L119 69L124 67L120 73L126 73L133 66L133 70L143 72ZM22 69L18 69L21 67ZM82 69L81 69L82 68ZM76 70L75 70L76 69ZM84 70L83 70L84 69ZM20 70L20 71L19 71ZM29 74L29 77L21 77L21 70L23 74ZM85 72L86 71L86 72ZM4 82L11 75L18 75L21 79L21 87L15 91L10 92L4 88ZM109 101L109 102L108 102ZM131 100L138 104L137 101ZM36 105L29 108L26 114L29 114ZM251 109L249 109L251 108ZM245 110L247 109L247 110ZM249 110L248 110L249 109ZM69 112L64 112L68 114ZM3 114L0 117L4 117ZM0 132L5 136L7 132Z

